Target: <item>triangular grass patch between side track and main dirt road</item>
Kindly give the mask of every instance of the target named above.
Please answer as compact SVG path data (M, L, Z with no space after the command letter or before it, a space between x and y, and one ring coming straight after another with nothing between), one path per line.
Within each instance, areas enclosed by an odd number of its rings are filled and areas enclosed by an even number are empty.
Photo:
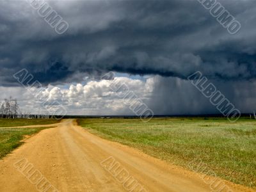
M36 134L43 129L51 127L36 128L0 128L0 159L12 152L23 143L25 136Z

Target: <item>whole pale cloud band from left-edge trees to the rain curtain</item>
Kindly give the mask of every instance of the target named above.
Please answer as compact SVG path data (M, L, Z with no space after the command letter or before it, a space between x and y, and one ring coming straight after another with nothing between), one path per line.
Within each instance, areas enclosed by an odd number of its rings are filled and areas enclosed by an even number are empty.
M128 77L115 77L115 82L127 85L130 92L135 93L138 99L148 102L153 91L154 77L150 77L145 81L139 79L131 79ZM124 104L122 97L118 97L118 93L111 89L110 80L89 81L86 84L70 84L67 88L59 86L49 86L42 90L40 100L37 100L25 88L3 88L6 94L1 100L9 95L17 98L22 111L37 113L45 111L45 100L49 102L58 101L67 109L68 115L134 115L129 109L129 105ZM1 89L0 89L1 90ZM33 88L32 93L35 93Z

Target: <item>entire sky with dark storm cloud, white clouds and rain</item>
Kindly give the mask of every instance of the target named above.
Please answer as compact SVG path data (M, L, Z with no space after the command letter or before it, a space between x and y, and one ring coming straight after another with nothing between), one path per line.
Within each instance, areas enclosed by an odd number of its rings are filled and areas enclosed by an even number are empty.
M52 100L68 115L134 115L101 78L115 72L154 115L220 113L187 79L200 71L241 113L253 113L256 3L218 2L241 24L236 34L199 0L40 1L39 13L33 0L1 0L0 100L12 95L30 113ZM45 20L46 8L66 31ZM22 69L42 84L40 99L13 77Z

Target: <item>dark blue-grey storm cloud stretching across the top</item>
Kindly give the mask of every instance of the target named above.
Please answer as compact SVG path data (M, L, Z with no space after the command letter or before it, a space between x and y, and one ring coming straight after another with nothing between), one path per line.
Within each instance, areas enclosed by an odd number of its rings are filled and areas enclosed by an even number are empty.
M198 1L47 1L67 20L55 33L26 1L0 2L1 85L27 68L41 83L114 70L186 79L255 79L254 1L220 1L241 22L230 35Z

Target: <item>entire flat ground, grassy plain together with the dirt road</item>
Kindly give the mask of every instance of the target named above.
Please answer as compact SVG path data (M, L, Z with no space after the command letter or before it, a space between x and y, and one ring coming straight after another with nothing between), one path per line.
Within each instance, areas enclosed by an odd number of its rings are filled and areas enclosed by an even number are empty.
M51 121L4 121L0 191L255 191L255 120Z

